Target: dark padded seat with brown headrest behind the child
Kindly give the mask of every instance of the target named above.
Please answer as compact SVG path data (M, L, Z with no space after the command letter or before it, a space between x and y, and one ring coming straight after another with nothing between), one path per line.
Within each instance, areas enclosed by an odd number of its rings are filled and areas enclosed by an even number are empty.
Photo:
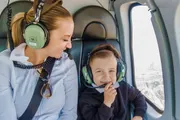
M75 28L70 54L74 58L79 76L79 92L84 90L82 67L87 64L91 50L104 43L110 43L120 52L117 40L116 24L113 16L106 9L99 6L81 8L73 15Z

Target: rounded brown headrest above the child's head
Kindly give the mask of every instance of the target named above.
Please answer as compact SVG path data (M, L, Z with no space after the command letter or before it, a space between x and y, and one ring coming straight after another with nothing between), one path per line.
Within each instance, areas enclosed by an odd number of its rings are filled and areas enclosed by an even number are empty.
M117 39L116 24L113 16L99 6L87 6L78 10L74 16L74 38L84 40Z

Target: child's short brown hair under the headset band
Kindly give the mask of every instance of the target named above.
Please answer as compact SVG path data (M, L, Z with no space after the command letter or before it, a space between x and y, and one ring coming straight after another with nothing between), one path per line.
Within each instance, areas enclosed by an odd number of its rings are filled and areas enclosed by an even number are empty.
M114 55L117 59L120 58L119 52L111 44L101 44L96 46L90 53L89 63L95 58L107 58Z

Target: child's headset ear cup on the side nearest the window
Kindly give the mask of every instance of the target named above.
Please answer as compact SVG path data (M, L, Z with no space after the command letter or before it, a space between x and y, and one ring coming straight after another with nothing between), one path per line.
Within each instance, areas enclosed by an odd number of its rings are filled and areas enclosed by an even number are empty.
M126 69L125 65L122 62L118 61L117 62L117 82L120 82L121 80L124 79L125 71L126 71L125 69Z

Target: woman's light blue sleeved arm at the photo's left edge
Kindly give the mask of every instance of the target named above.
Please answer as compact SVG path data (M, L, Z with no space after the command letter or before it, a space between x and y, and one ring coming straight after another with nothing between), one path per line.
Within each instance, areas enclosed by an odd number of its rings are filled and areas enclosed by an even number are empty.
M9 65L0 61L0 120L17 120Z

